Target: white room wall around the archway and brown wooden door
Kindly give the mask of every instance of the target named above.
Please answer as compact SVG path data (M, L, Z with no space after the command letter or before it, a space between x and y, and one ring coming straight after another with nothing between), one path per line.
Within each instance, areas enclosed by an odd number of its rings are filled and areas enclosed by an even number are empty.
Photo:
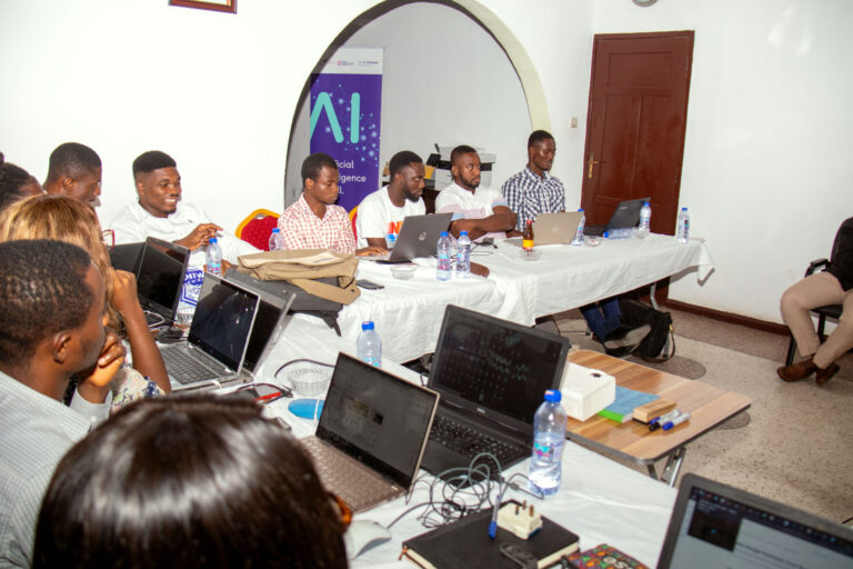
M829 253L840 221L853 213L853 3L460 1L491 10L528 51L570 206L580 201L593 33L695 30L681 202L717 270L702 287L681 279L671 296L779 321L781 292L809 260ZM133 158L160 148L178 160L187 200L232 229L255 204L283 206L288 137L305 78L375 3L253 0L231 16L167 0L3 0L0 150L43 179L57 144L92 146L104 160L100 216L110 219L133 199ZM490 104L472 108L504 111ZM424 109L422 120L440 121L442 111ZM510 168L510 157L499 159Z

